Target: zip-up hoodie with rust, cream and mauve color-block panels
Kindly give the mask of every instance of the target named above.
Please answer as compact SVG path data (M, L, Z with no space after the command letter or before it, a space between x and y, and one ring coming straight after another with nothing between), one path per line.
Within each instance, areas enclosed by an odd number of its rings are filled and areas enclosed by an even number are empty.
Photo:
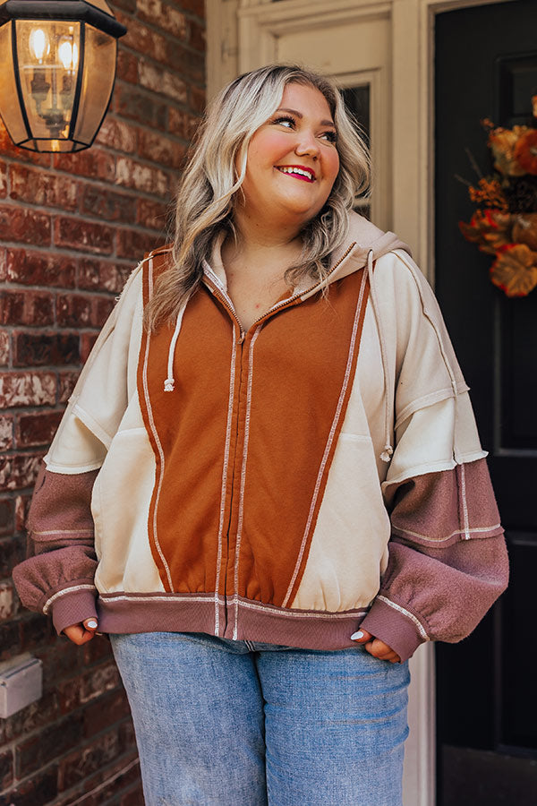
M142 327L169 249L99 335L14 572L55 628L200 631L403 660L507 584L468 387L405 244L353 214L328 278L243 330L220 241L175 327ZM323 292L324 293L321 293Z

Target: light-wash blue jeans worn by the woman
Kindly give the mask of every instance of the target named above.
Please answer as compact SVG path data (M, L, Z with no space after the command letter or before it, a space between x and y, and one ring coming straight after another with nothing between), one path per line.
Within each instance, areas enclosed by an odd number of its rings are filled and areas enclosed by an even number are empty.
M401 806L407 664L360 646L110 639L147 806Z

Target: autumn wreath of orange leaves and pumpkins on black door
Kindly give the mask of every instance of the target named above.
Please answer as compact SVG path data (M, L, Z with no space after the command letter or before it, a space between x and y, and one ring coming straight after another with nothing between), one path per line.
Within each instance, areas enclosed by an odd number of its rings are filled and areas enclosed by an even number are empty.
M532 105L537 126L537 95ZM494 285L507 296L527 296L537 286L537 128L506 129L489 119L482 125L494 172L469 186L470 199L480 206L459 227L467 241L495 255Z

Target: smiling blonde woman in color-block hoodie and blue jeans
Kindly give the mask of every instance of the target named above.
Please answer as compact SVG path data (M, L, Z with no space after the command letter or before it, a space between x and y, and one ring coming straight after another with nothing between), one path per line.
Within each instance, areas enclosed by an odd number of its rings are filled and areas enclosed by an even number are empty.
M150 806L398 806L407 659L505 587L467 387L367 180L329 81L230 84L47 454L15 579L110 635Z

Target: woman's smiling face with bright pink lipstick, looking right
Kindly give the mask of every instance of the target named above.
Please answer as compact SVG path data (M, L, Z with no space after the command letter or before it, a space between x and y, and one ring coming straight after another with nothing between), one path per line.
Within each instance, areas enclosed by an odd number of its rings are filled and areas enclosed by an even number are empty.
M339 170L337 130L327 99L314 87L287 84L276 112L253 134L243 181L245 209L313 219Z

